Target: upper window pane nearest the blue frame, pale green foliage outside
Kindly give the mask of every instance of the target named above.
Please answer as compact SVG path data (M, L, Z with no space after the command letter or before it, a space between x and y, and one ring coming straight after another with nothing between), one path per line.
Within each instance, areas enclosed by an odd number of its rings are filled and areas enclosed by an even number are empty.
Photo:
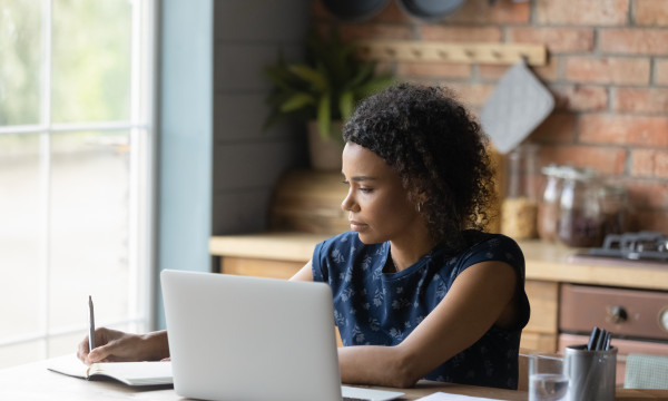
M55 0L53 123L130 118L131 4Z

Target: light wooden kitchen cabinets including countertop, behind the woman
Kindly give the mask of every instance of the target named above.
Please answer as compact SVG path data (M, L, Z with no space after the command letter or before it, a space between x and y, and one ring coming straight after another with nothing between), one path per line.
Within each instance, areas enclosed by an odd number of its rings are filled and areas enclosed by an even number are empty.
M218 271L222 273L289 278L311 260L314 246L328 236L308 233L214 236L209 242L209 251L217 258ZM593 325L602 325L606 319L612 319L606 315L599 321L586 320L584 326L579 326L578 330L560 325L561 312L574 313L561 311L562 307L571 307L573 311L578 309L587 311L590 307L581 301L571 302L570 306L563 305L562 288L568 288L569 285L602 288L603 293L609 291L607 288L615 291L622 288L639 296L640 304L644 303L642 296L649 293L650 295L647 296L654 300L652 307L657 314L664 311L661 307L668 310L668 265L666 264L649 265L621 261L601 263L600 260L573 257L578 250L558 244L540 241L521 241L519 244L524 253L525 291L531 303L531 319L522 332L520 343L524 350L556 352L563 350L563 346L573 341L586 343L586 334ZM599 307L605 309L605 300L600 302L603 306ZM561 320L564 320L563 313ZM657 315L656 319L661 317ZM616 333L616 326L607 330ZM654 330L660 333L662 329ZM668 329L666 330L665 336L657 334L648 338L646 334L639 334L630 336L632 340L625 339L623 342L615 339L613 345L620 343L619 371L623 373L623 355L628 352L656 354L665 349L668 354ZM629 336L623 330L619 333ZM633 333L636 332L631 332ZM629 344L629 341L632 343Z

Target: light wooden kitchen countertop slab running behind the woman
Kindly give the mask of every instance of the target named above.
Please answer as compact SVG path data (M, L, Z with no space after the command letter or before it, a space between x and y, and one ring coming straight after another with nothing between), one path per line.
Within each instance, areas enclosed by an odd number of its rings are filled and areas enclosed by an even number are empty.
M217 256L304 262L314 246L330 235L307 233L261 233L214 236L209 252ZM527 278L595 285L668 291L668 263L574 257L582 250L541 241L519 242L527 261Z

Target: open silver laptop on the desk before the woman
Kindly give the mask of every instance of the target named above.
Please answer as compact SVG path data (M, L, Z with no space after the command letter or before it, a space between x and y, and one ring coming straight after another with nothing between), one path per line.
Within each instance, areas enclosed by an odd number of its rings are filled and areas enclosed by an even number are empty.
M392 400L341 385L332 292L324 283L215 273L160 274L174 389L235 401Z

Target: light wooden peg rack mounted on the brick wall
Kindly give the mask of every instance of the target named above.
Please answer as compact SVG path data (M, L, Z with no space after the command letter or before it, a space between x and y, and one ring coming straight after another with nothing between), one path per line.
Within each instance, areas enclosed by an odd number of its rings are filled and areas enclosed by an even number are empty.
M355 45L361 58L380 61L512 65L523 58L530 66L544 66L548 61L543 45L401 40L365 40Z

